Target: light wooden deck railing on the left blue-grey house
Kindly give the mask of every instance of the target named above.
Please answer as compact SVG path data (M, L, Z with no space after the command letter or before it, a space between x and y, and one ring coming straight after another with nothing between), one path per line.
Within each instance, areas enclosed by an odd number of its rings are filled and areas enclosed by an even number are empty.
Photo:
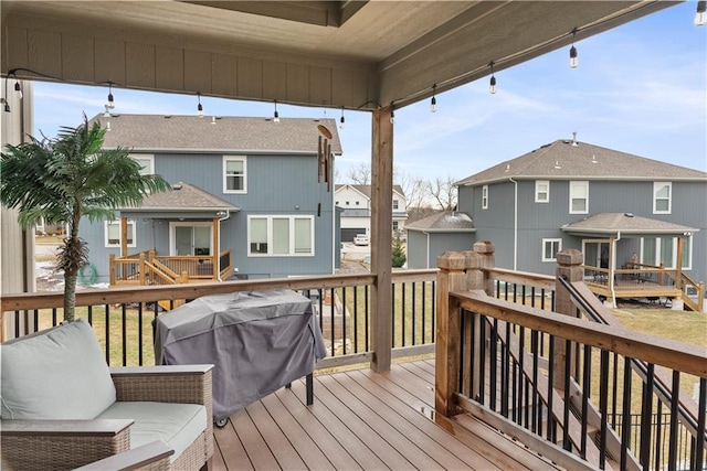
M231 249L207 256L160 256L155 250L109 256L112 287L220 281L232 275Z

